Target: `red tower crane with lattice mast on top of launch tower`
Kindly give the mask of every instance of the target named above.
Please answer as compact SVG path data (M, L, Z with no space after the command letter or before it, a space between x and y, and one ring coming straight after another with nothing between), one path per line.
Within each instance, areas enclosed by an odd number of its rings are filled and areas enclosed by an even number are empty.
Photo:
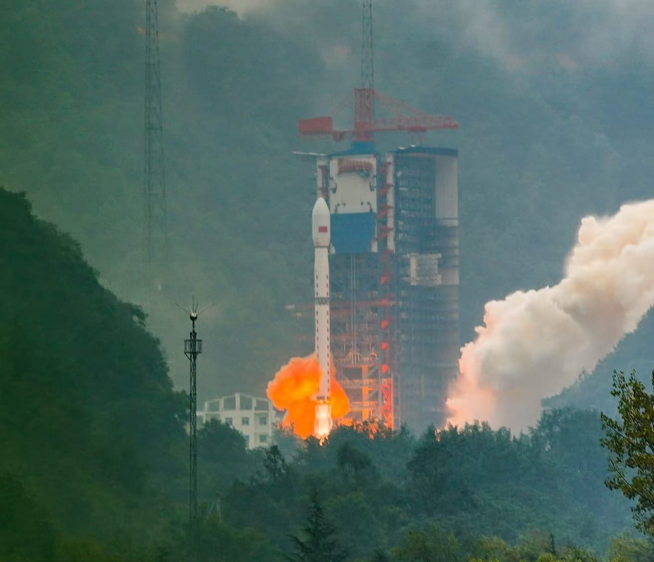
M458 123L447 116L435 116L409 107L375 91L373 67L372 0L363 0L363 22L361 39L361 86L354 88L339 103L337 111L354 99L354 124L345 129L334 128L334 117L321 116L302 119L298 122L298 133L303 139L354 139L370 141L373 133L385 131L407 131L425 133L430 129L458 129ZM392 117L375 119L375 103L384 107Z

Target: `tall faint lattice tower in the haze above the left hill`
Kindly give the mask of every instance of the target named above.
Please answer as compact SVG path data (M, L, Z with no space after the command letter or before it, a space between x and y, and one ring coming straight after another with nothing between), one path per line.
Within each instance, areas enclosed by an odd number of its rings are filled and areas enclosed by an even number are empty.
M159 61L158 0L145 0L145 250L152 281L167 269L165 171L163 167L162 85Z

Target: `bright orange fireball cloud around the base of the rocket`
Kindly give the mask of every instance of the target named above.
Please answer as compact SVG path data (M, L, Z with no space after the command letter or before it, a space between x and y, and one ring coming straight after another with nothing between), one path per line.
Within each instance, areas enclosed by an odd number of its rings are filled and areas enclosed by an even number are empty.
M332 419L345 416L350 410L350 402L341 385L331 372ZM313 435L316 417L316 401L320 382L320 366L315 354L307 357L293 357L279 369L275 378L268 383L267 397L278 410L286 410L283 427L292 428L299 437L306 439Z

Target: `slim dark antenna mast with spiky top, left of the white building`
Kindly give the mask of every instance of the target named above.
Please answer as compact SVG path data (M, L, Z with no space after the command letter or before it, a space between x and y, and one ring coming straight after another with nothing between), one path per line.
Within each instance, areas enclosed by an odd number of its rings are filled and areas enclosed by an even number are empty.
M198 355L202 353L202 340L196 333L196 320L198 320L198 307L195 302L188 313L191 319L191 333L188 340L184 340L184 355L190 361L190 380L188 388L188 416L189 416L189 487L188 487L188 518L191 559L198 560L198 384L197 363Z

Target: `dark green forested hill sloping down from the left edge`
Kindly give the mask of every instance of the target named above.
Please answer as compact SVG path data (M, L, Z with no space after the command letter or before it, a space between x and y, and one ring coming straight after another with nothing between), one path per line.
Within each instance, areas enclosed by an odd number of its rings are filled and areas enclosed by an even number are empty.
M143 312L4 190L0 240L0 473L21 474L66 529L154 531L139 503L181 467L184 402Z

